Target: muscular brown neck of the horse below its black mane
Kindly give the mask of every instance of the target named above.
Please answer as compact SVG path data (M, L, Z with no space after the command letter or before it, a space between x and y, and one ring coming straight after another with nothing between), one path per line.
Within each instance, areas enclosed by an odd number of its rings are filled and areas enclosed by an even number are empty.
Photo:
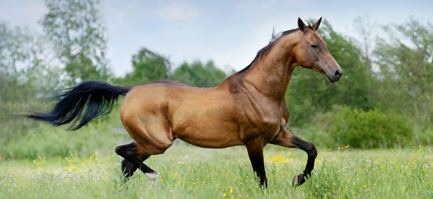
M251 85L264 96L283 100L294 69L292 49L295 45L294 40L290 38L277 40L267 53L265 52L244 72L243 83Z

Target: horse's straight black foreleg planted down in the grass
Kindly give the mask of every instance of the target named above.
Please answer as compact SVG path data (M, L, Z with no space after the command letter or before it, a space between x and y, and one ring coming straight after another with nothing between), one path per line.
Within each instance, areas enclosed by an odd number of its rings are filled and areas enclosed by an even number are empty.
M260 187L268 188L268 180L266 178L265 164L263 161L263 141L251 142L245 144L248 151L248 157L251 161L254 173L260 179Z

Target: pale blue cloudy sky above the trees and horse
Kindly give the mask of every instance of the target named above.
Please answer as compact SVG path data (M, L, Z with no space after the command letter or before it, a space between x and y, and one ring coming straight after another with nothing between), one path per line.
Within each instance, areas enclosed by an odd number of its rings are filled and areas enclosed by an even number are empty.
M107 58L114 76L132 71L142 47L182 62L213 60L224 71L247 66L271 38L272 29L297 27L297 19L323 16L334 30L359 37L353 21L377 24L433 20L432 0L101 0L107 26ZM42 32L43 0L0 0L0 20Z

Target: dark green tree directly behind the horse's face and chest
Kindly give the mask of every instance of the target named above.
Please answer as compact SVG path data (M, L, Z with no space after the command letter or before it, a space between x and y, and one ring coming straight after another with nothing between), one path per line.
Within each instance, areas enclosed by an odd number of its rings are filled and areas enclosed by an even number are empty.
M360 48L335 32L327 21L322 21L319 32L344 74L339 82L331 84L323 75L296 68L286 94L291 126L307 124L316 113L330 110L333 104L361 109L374 107L368 98L371 95L369 82L374 80Z

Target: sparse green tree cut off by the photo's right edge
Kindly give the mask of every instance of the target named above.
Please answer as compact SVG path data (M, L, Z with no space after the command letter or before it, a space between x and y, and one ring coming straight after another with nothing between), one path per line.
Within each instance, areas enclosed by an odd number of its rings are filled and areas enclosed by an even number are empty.
M387 35L378 39L375 50L380 107L415 116L422 125L433 124L433 25L412 18L383 29Z

